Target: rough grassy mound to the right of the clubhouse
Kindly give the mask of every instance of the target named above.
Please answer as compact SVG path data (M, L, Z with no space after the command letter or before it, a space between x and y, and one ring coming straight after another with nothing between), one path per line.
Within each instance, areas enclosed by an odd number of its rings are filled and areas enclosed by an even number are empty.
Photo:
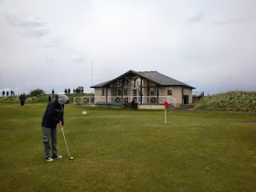
M204 97L196 110L256 112L256 91L229 91Z

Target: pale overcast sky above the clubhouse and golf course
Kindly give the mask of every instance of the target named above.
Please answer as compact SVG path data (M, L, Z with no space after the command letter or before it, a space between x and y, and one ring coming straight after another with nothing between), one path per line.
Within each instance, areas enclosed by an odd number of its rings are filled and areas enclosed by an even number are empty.
M255 0L0 0L0 91L63 92L156 70L256 91ZM2 96L2 94L1 94Z

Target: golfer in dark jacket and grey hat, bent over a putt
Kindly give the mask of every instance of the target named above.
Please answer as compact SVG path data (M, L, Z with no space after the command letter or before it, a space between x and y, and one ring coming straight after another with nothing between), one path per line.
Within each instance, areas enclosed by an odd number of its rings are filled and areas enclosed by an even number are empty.
M64 124L64 104L69 103L69 97L59 97L48 103L47 110L42 121L43 144L45 149L45 161L53 161L54 158L62 158L57 148L57 124ZM52 155L50 157L50 155Z

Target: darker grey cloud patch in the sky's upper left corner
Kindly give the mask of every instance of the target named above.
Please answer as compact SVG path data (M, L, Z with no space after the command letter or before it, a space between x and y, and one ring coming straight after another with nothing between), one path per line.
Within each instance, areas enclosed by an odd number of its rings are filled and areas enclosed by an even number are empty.
M7 15L5 18L10 25L21 28L24 37L37 38L48 35L49 29L38 17Z

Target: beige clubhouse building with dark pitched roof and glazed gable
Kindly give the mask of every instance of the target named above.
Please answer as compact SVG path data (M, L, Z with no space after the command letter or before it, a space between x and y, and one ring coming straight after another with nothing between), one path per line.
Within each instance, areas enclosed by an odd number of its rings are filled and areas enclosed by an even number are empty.
M173 105L191 104L192 90L195 89L157 71L134 70L91 88L94 89L94 103L133 101L138 106L163 105L165 101Z

